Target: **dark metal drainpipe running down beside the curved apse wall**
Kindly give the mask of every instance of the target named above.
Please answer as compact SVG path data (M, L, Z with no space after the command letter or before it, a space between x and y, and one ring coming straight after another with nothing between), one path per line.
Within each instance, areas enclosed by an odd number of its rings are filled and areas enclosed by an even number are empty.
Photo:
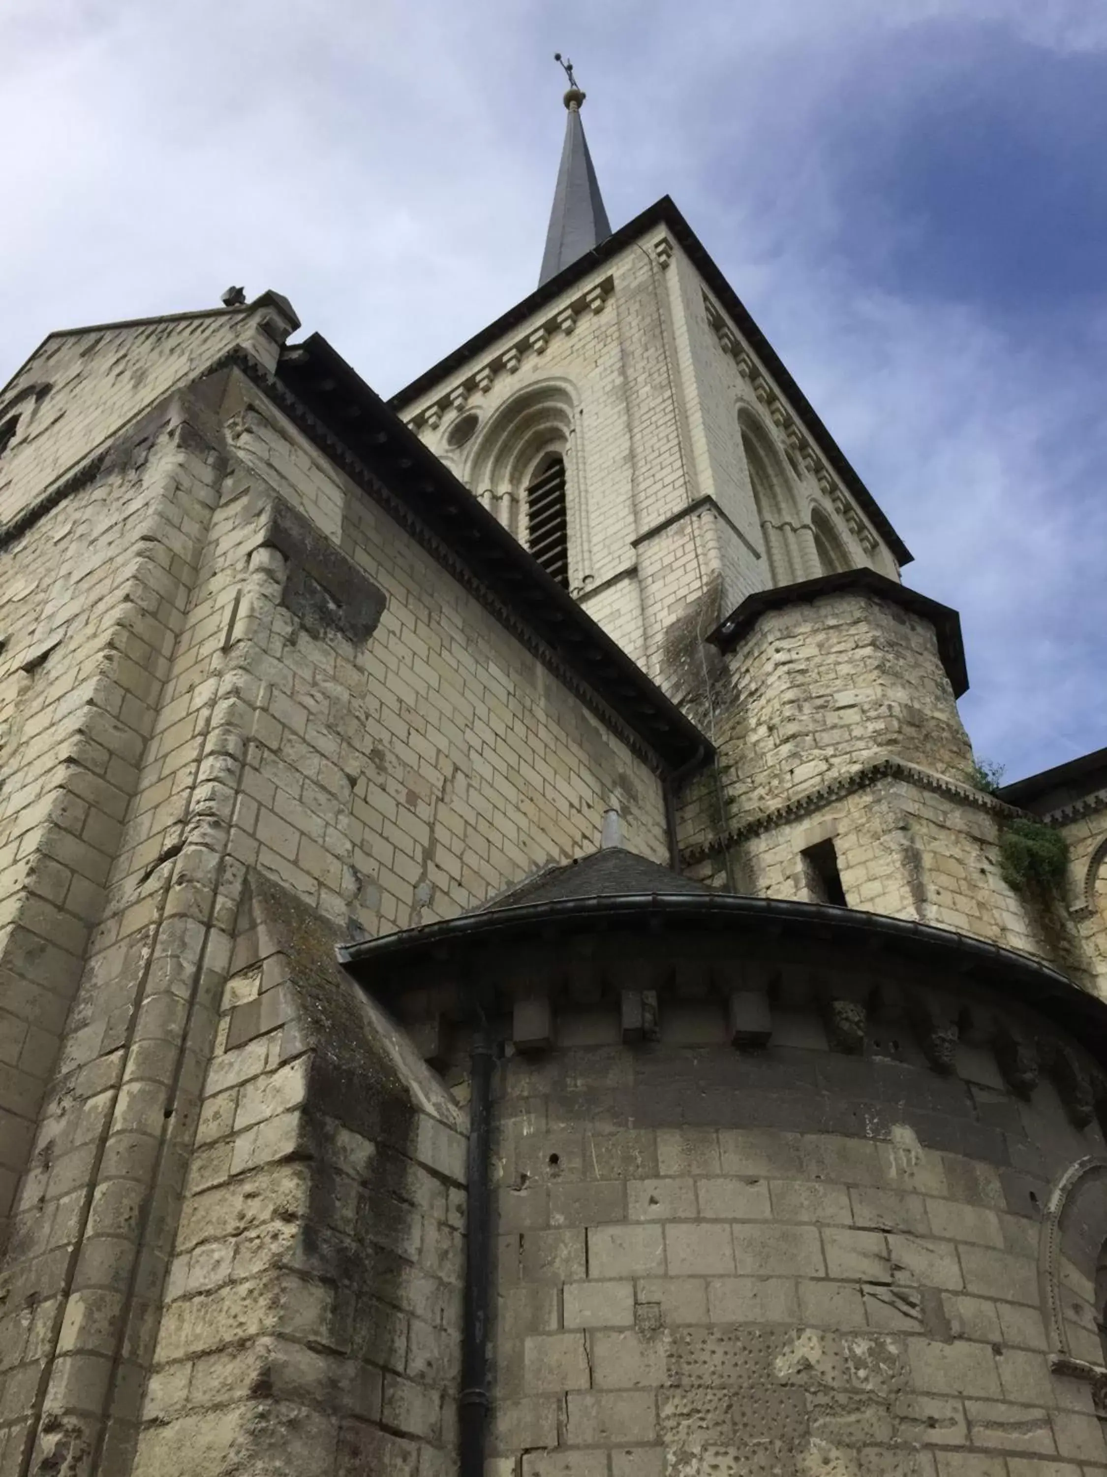
M462 1325L462 1390L459 1425L461 1477L484 1477L484 1430L489 1418L489 1285L490 1199L489 1133L494 1053L481 1018L469 1053L469 1159L465 1192L465 1322Z

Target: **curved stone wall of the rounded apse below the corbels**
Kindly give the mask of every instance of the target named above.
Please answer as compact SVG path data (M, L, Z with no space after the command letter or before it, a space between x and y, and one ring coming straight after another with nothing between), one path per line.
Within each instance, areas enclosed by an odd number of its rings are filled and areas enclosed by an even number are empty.
M903 1019L828 1050L801 994L765 1052L726 1037L714 1001L661 1000L641 1047L565 1006L503 1063L493 1473L1107 1471L1051 1368L1103 1363L1103 1183L1063 1193L1100 1130L1015 1096L968 1018L946 1077Z

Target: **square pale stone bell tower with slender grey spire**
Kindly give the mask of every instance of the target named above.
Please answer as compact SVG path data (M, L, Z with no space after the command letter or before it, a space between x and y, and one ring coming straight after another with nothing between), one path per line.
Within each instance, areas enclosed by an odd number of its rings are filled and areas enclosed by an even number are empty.
M583 103L536 291L391 403L680 697L745 595L911 554L673 201L611 232Z

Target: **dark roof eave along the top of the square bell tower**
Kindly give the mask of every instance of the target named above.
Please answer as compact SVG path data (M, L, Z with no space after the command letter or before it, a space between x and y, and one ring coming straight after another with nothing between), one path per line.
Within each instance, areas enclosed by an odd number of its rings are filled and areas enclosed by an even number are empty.
M658 225L666 225L672 230L676 241L698 269L707 287L719 300L719 304L734 321L738 331L748 340L750 347L776 381L781 394L784 394L784 397L790 402L793 411L806 427L812 440L827 458L827 462L841 477L843 483L863 508L865 515L874 523L880 536L896 557L896 561L899 564L909 564L914 554L900 539L899 533L896 533L877 499L853 470L846 458L846 453L822 424L822 419L816 414L815 408L788 374L784 363L778 357L776 350L757 326L751 313L726 281L704 244L680 214L670 195L663 195L661 199L654 201L652 205L648 205L641 214L635 216L633 220L629 220L626 226L620 226L618 230L608 236L607 241L602 241L598 247L595 247L595 250L587 251L571 266L565 267L564 272L551 278L549 282L543 282L534 292L530 292L514 307L508 309L506 313L502 313L493 323L489 323L487 328L474 334L472 338L468 338L452 353L446 354L446 357L440 359L438 363L431 365L430 369L424 371L424 374L421 374L416 380L412 380L412 383L404 385L403 390L399 390L388 400L388 403L397 412L403 411L403 408L410 405L412 400L419 399L419 396L425 394L435 384L447 380L458 369L461 369L462 365L468 363L469 359L477 357L477 354L480 354L484 349L496 343L497 338L502 338L518 323L531 318L540 307L543 307L543 304L552 303L554 298L559 297L574 282L579 282L582 278L587 276L589 272L593 272L605 261L618 256L618 253L624 247L632 245L644 230Z

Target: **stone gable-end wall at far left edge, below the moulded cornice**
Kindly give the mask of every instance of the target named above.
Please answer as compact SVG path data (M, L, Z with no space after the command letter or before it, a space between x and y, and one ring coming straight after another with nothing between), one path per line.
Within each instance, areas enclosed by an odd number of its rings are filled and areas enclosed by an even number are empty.
M186 408L162 406L0 549L0 1220L58 1063L184 622L189 539L214 480L187 440ZM102 1040L115 1034L109 1015L93 1027ZM55 1179L68 1185L74 1171L66 1161Z

